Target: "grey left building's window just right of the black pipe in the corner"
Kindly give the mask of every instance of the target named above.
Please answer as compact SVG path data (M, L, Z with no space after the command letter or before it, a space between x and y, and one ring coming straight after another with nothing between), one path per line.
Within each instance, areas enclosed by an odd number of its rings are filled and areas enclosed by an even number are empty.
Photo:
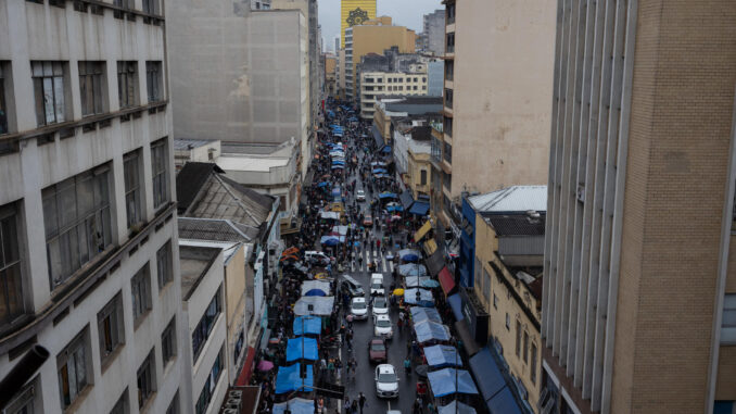
M72 405L89 384L86 342L87 329L85 328L56 355L62 409Z

